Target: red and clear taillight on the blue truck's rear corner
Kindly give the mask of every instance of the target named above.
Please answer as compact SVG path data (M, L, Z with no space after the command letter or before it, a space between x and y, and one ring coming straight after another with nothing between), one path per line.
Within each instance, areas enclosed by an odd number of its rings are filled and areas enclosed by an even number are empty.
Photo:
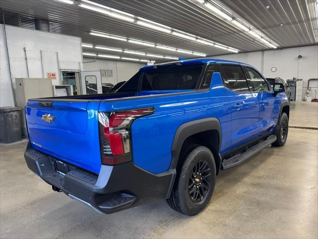
M131 161L131 124L135 119L153 113L154 108L99 112L99 139L102 164L113 165Z

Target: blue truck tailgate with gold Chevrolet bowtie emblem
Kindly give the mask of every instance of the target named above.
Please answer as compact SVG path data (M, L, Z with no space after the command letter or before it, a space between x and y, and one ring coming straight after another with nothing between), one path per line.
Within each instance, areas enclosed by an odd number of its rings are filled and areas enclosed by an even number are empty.
M99 102L28 101L25 114L32 147L70 164L99 173Z

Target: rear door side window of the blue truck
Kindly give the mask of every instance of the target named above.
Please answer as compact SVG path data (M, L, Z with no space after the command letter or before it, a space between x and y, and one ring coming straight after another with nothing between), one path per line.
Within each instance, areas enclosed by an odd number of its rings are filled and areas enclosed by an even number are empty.
M248 92L248 85L240 66L222 65L226 85L235 92Z

